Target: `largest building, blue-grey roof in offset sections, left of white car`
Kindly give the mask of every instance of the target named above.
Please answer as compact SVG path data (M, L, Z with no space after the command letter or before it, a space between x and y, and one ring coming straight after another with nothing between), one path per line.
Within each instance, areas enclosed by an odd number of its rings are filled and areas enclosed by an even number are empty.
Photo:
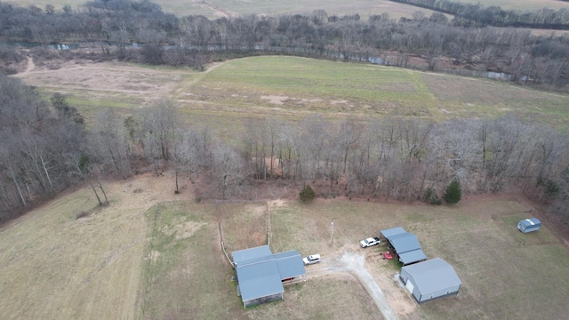
M283 281L305 276L302 256L296 250L273 254L268 245L231 252L237 273L237 293L245 308L282 300Z

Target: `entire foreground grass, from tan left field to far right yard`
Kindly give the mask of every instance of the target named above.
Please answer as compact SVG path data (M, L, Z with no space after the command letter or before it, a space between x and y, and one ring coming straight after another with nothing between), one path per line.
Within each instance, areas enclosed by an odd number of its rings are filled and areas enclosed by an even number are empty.
M188 190L174 195L172 180L143 176L108 183L111 204L102 209L94 207L89 189L80 189L2 226L2 317L381 317L349 274L313 277L286 286L283 301L242 308L231 280L235 272L220 247L218 219L231 250L264 244L269 225L273 252L318 252L323 266L341 252L365 254L366 270L402 319L555 319L569 312L563 303L569 299L569 251L547 224L532 234L518 232L517 220L531 212L514 200L430 206L317 199L216 208L162 203L192 198ZM89 214L76 219L77 212ZM413 232L429 259L453 265L463 283L457 297L416 306L394 280L397 264L381 260L384 248L358 247L365 236L396 226Z

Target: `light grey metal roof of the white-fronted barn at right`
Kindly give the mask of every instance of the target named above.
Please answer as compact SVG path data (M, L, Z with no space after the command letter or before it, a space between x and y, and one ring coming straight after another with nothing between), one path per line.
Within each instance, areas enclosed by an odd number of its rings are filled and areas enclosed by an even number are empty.
M401 269L413 277L413 282L421 295L462 284L453 266L440 258L415 263Z

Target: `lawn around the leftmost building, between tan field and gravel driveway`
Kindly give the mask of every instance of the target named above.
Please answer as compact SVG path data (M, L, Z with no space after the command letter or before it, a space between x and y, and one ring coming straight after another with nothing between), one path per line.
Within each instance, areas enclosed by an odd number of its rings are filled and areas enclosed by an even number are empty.
M266 244L253 235L255 240L249 240L252 245L238 247L247 244L247 230L252 225L265 222L267 204L222 206L221 217L226 220L221 224L227 246L235 248L231 250ZM381 318L361 284L348 274L288 285L284 301L244 310L236 296L236 283L231 281L235 271L220 248L215 208L215 204L169 203L159 204L157 213L155 208L148 210L148 224L154 225L154 232L146 255L141 318ZM243 214L232 215L232 212Z

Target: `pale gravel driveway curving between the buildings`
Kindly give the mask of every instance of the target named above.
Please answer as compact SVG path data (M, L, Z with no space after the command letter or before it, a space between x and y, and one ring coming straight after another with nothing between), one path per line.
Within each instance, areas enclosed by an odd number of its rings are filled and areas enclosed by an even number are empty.
M348 272L349 274L356 276L359 282L365 287L365 291L367 291L370 297L372 297L373 302L375 302L377 308L380 309L383 317L386 320L396 320L397 316L389 307L385 294L381 291L380 286L375 283L372 275L367 272L364 264L365 257L363 254L358 254L356 252L343 252L340 257L331 257L324 260L319 264L318 268L308 267L306 277L311 278L339 272Z

